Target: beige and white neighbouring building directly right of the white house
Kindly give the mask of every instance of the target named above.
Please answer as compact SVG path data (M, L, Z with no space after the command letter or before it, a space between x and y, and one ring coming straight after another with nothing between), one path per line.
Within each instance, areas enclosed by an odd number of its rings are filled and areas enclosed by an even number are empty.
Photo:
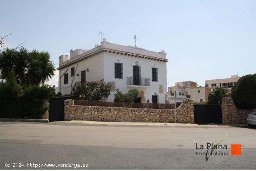
M177 93L178 99L181 99L181 97L185 97L187 94L190 94L190 98L194 101L206 102L208 100L211 89L202 86L197 87L196 82L191 81L175 82L175 86L168 87L169 101L173 101L174 96L171 94L174 94L175 91Z

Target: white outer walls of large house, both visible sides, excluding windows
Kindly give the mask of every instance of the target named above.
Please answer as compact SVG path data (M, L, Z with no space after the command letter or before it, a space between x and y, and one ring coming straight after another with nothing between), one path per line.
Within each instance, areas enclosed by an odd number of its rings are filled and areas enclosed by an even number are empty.
M115 53L114 51L118 52ZM115 82L115 90L120 89L122 93L127 93L130 89L143 91L144 101L142 102L149 100L151 103L152 95L158 95L158 103L165 103L167 61L164 51L154 52L132 46L111 44L103 39L100 46L59 63L60 92L62 95L69 95L75 82L81 81L81 71L88 69L86 82L104 79L105 82ZM115 78L115 63L123 64L122 79ZM141 78L149 78L150 86L127 85L127 77L133 76L133 65L141 66ZM76 70L74 76L71 76L72 67ZM158 69L158 82L152 82L152 68ZM64 84L64 73L68 73L67 84ZM79 76L77 76L78 73ZM107 101L114 101L115 93L116 91L111 91Z

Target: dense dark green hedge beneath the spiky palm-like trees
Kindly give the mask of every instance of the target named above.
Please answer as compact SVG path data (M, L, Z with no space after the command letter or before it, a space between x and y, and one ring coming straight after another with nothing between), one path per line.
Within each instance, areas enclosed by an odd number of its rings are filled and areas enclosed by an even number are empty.
M13 83L9 80L0 83L0 118L40 119L47 110L47 107L43 107L44 99L54 95L54 88L46 85L18 87L14 91Z

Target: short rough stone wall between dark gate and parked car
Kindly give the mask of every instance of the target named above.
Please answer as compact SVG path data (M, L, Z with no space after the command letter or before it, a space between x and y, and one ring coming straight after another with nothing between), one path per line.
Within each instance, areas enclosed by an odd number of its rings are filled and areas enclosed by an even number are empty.
M231 97L222 99L222 123L223 124L241 124L246 123L246 118L250 109L238 109Z

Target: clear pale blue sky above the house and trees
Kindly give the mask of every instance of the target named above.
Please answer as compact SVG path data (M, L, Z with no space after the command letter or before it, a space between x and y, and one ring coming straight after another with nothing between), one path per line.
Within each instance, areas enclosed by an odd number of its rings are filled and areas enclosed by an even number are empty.
M55 68L70 49L110 43L167 53L167 84L256 73L256 0L0 0L6 46L26 41ZM5 46L5 47L6 47ZM49 84L56 85L58 72Z

